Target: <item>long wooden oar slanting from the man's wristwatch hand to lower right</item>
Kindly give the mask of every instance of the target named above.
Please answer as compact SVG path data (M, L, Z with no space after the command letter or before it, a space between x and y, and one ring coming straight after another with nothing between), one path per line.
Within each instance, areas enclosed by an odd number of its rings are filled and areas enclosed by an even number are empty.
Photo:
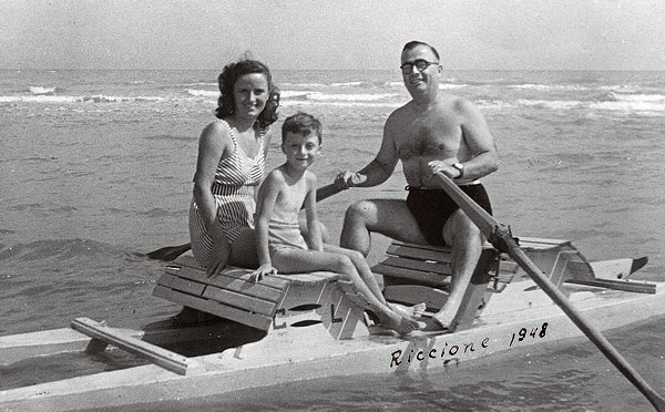
M508 253L513 260L524 269L533 281L548 293L548 296L567 315L569 318L580 328L584 334L610 359L612 363L642 392L646 399L659 412L665 412L665 399L661 396L648 383L637 373L635 369L618 353L610 341L589 321L582 318L582 313L575 309L566 297L545 277L543 271L531 261L531 259L520 248L512 237L510 229L494 219L473 199L471 199L462 189L459 188L450 178L441 173L437 175L441 188L460 206L469 218L480 228L488 240L499 250Z

